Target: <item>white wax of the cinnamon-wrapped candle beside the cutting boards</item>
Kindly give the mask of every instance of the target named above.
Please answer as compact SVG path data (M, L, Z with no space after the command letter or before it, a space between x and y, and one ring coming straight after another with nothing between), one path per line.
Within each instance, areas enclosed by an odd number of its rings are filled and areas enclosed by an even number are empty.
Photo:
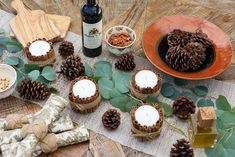
M37 40L29 46L29 52L32 56L45 56L50 49L50 44L44 40Z

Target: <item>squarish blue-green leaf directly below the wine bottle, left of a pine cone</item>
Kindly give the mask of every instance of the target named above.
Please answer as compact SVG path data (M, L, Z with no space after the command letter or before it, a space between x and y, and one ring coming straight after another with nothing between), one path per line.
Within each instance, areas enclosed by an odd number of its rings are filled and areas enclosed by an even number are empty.
M112 76L112 64L107 61L99 61L94 65L94 76L98 78L108 78Z

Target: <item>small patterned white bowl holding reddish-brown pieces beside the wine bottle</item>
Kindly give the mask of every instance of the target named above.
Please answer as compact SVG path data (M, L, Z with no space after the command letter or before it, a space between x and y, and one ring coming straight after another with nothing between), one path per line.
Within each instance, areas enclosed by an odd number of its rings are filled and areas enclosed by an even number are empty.
M132 42L127 45L127 46L114 46L109 43L109 38L112 34L116 33L129 33L131 36ZM111 27L110 29L107 30L105 33L105 42L106 42L106 47L109 50L110 53L116 55L116 56L121 56L123 54L126 54L131 51L132 45L134 44L136 40L136 34L135 31L127 26L119 25L119 26L114 26Z

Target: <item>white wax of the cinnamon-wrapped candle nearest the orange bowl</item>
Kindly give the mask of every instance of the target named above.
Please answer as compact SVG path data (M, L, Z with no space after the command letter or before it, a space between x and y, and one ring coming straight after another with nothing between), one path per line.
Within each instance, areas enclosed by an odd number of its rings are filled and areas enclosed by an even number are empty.
M135 82L140 88L154 88L157 85L158 77L150 70L141 70L135 75Z

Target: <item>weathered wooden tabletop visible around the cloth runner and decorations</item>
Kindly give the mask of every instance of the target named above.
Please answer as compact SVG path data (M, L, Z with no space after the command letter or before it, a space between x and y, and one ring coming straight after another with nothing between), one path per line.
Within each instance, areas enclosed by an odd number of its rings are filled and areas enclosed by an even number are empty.
M47 13L70 16L72 18L70 31L81 34L80 6L82 3L84 3L84 0L22 1L27 8L32 10L42 9ZM0 8L14 13L10 3L11 0L0 0ZM231 37L233 48L235 50L234 0L98 0L98 3L104 10L104 31L107 30L107 28L117 24L124 24L135 29L138 39L135 43L134 52L139 56L145 57L141 46L141 36L146 26L149 25L149 23L151 23L153 20L157 20L163 16L173 14L194 15L211 21ZM234 71L235 55L230 68L225 73L217 77L217 79L234 81ZM30 107L23 105L22 109L35 110L32 105ZM110 150L116 150L116 152L119 152L119 155L116 156L123 156L120 155L122 150L126 156L130 157L149 156L125 146L122 146L121 149L119 144L105 138L102 135L92 133L91 142L97 143L97 141L98 143L104 143L101 145L100 149L108 151L108 149L105 147L110 146L112 148L109 149L109 152L107 152L106 155L102 156L115 156L110 154ZM89 156L89 153L86 153L87 151L88 143L84 143L81 145L80 149L77 150L76 156ZM69 152L67 153L69 154ZM54 155L56 156L56 154ZM92 156L91 153L90 156Z

